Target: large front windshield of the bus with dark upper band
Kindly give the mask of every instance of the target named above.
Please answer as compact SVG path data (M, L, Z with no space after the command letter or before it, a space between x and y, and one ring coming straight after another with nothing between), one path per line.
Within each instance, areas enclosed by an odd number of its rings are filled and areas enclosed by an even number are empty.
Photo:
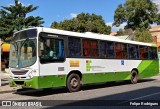
M23 68L31 66L36 62L36 36L37 32L35 29L15 34L10 48L10 67Z

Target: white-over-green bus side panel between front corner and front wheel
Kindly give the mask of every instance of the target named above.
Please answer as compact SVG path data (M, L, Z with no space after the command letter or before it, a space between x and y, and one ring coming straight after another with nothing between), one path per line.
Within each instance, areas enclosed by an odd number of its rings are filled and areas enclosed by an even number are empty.
M66 85L66 62L40 64L39 88Z

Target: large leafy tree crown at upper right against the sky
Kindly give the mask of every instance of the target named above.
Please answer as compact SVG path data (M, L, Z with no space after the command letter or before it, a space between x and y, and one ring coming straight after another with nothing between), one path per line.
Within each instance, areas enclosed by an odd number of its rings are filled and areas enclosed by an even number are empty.
M113 25L119 26L127 22L125 28L148 28L154 22L158 23L157 5L152 0L126 0L125 4L120 4L114 14ZM159 20L160 23L160 20Z

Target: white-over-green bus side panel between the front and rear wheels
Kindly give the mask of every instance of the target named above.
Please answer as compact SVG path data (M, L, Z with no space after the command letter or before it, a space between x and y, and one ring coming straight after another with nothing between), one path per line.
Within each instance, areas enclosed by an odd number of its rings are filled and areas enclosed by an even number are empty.
M141 60L87 59L83 66L83 84L129 80L131 70L137 68Z

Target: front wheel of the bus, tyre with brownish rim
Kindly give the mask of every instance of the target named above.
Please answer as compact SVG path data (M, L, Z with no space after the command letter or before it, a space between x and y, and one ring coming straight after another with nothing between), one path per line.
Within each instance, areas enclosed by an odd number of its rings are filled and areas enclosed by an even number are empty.
M69 92L76 92L80 89L80 77L78 74L72 73L67 79L67 89Z

